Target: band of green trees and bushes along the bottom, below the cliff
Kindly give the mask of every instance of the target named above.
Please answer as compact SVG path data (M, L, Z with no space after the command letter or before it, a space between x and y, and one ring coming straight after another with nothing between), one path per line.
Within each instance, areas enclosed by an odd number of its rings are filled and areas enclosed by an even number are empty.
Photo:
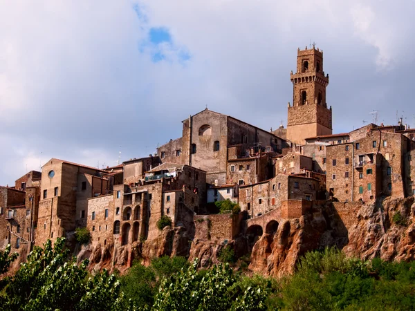
M230 250L223 248L222 261ZM0 263L15 257L9 253ZM63 239L54 249L35 247L1 285L1 310L415 310L415 261L361 261L335 248L308 252L279 280L244 276L228 263L197 270L197 260L182 257L135 263L118 278L89 276L87 263L68 258Z

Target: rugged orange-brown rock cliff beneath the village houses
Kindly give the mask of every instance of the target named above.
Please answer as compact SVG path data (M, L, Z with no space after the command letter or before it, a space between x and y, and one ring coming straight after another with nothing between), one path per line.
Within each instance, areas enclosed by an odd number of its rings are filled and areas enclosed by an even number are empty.
M134 259L149 264L158 256L199 258L201 267L219 262L223 247L231 247L237 258L250 256L252 272L282 276L293 272L305 252L336 245L348 256L362 259L380 256L392 261L409 261L415 255L414 197L387 198L377 204L326 202L313 206L300 218L282 220L275 234L262 234L252 246L240 234L233 240L200 238L203 234L183 227L165 227L151 241L128 246L84 247L78 258L90 258L91 270L107 267L127 270ZM194 230L194 229L193 229Z

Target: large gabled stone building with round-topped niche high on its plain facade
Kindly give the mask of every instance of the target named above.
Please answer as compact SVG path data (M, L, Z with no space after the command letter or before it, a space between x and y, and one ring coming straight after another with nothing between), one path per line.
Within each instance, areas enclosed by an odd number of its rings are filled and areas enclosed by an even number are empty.
M164 162L187 164L207 172L207 182L228 183L228 147L254 148L281 153L286 140L234 117L205 109L183 120L183 135L157 149Z

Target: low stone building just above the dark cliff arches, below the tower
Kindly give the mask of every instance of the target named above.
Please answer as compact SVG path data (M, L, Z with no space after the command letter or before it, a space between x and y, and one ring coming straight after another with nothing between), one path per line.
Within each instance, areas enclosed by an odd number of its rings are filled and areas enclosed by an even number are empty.
M239 187L239 205L250 217L261 216L291 199L317 200L319 180L279 173L255 185Z

